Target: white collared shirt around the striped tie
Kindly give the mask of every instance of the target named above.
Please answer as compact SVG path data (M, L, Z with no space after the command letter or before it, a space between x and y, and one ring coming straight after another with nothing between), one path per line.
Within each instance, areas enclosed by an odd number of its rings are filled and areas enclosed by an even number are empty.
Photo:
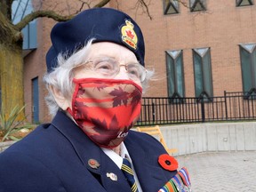
M103 150L103 152L112 159L112 161L119 167L119 169L121 170L122 164L123 164L123 158L127 158L130 163L132 164L132 159L129 156L128 150L124 145L124 142L122 142L120 144L120 148L121 148L121 156L119 156L118 154L116 154L115 151L109 149L109 148L101 148ZM136 185L138 187L138 191L142 192L142 189L140 187L140 181L138 180L137 174L134 170L133 164L132 164L132 171L133 171L133 175L134 175L134 180L136 182Z

